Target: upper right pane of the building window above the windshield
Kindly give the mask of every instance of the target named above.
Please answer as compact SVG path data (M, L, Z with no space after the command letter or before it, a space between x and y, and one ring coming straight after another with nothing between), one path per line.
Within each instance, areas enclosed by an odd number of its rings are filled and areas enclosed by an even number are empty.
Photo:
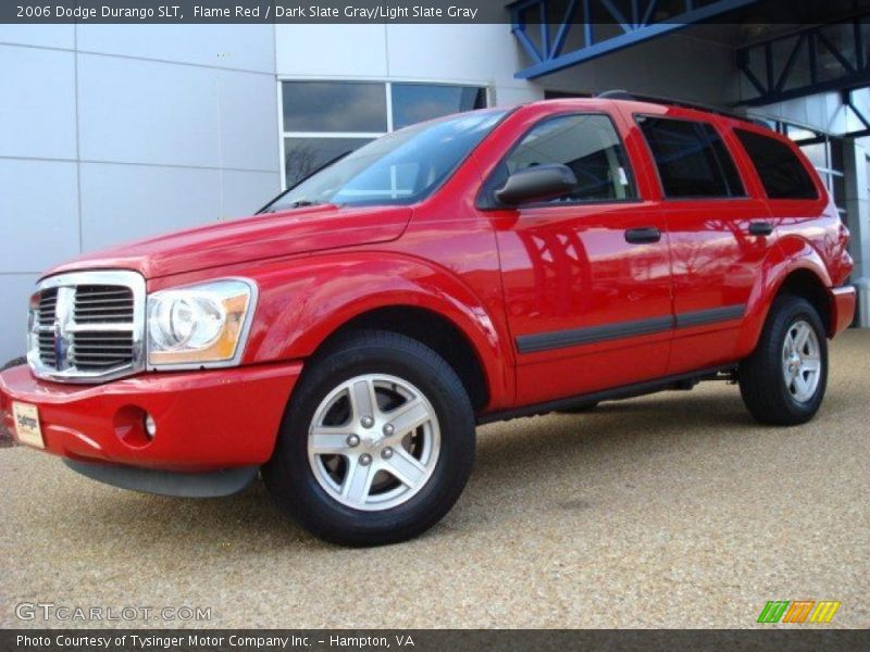
M393 128L486 108L486 89L431 84L393 85Z

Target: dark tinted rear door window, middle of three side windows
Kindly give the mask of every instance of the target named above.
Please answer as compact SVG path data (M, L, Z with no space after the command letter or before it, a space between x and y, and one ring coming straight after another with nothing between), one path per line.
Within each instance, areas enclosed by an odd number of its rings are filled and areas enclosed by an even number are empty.
M712 125L638 116L668 199L744 197L737 168Z

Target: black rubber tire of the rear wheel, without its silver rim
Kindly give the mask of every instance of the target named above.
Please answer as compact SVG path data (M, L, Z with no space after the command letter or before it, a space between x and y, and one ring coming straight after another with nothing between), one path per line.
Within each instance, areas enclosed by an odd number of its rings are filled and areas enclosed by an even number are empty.
M799 322L816 335L821 364L811 397L797 400L783 372L783 347ZM816 309L806 299L791 294L778 297L770 308L758 346L741 362L737 373L741 396L749 413L760 423L794 426L811 419L819 411L828 385L828 340Z

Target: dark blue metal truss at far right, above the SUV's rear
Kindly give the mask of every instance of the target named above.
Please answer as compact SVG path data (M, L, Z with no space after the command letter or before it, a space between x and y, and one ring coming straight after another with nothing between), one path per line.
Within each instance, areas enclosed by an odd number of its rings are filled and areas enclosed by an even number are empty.
M868 18L870 13L850 18L852 29L841 32L844 42L828 38L828 25L816 25L796 34L739 48L737 67L756 93L741 104L760 106L819 92L870 86L870 65L866 61L861 32L861 24ZM837 25L848 26L849 23ZM774 52L782 51L782 48L774 46L787 46L791 41L794 43L787 59L778 59ZM754 61L756 65L753 65ZM831 63L840 71L832 72ZM761 71L765 71L763 75Z

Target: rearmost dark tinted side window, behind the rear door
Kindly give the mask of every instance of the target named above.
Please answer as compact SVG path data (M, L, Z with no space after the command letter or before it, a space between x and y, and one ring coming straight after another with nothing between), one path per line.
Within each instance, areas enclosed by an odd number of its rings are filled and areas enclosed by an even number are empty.
M734 131L758 171L768 199L818 199L812 179L792 148L753 131Z

